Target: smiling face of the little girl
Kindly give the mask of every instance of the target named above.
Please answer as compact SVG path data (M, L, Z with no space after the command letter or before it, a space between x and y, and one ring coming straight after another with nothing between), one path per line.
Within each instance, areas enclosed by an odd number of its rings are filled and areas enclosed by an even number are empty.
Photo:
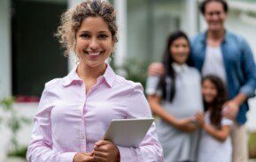
M203 99L205 100L206 103L212 103L218 94L215 85L213 85L213 83L209 79L206 79L203 82L202 94Z

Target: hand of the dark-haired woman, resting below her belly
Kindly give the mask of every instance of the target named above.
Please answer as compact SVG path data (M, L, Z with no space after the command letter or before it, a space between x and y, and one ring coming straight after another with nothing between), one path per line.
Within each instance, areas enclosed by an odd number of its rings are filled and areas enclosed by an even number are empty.
M176 119L174 126L185 132L192 132L198 129L198 123L193 118Z

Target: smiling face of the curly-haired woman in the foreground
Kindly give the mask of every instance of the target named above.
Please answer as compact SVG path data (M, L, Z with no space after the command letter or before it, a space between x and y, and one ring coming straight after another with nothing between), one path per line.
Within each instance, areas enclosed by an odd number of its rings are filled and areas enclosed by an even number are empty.
M85 18L76 33L75 52L80 63L91 68L105 66L112 53L112 33L105 21L99 17Z

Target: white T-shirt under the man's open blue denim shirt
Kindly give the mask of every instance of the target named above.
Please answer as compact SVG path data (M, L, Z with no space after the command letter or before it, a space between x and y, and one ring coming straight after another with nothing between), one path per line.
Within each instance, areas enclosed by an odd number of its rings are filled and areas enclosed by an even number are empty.
M206 59L202 68L202 76L216 75L226 84L226 70L223 62L221 47L206 47Z

